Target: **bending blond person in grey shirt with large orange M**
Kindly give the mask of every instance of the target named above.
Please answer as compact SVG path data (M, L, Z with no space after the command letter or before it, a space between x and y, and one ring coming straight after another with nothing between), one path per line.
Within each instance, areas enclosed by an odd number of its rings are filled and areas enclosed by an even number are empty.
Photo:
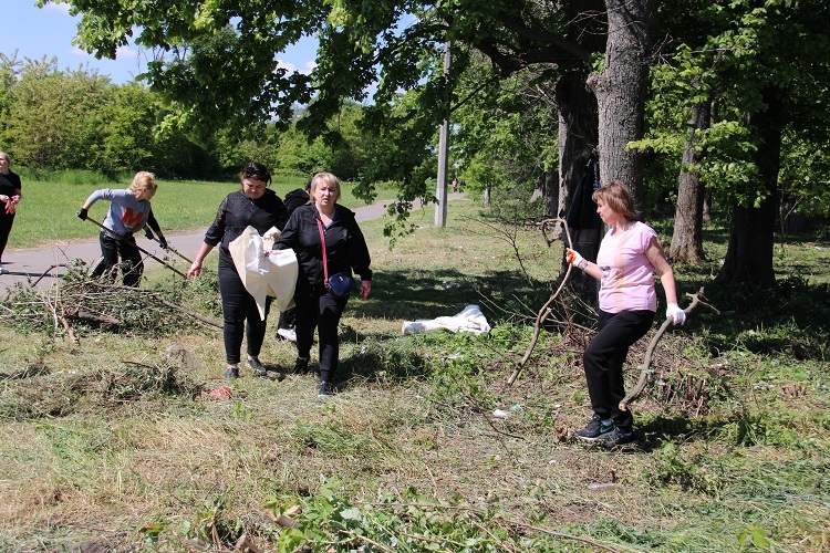
M149 204L157 189L155 175L148 171L138 171L126 189L102 188L86 198L86 201L77 211L77 217L83 221L86 220L93 204L98 200L110 202L110 209L102 223L105 228L101 229L98 233L103 260L93 268L93 278L110 274L118 264L118 255L121 255L122 263L125 265L122 267L124 285L138 285L144 273L144 262L133 234L142 230L145 225L156 231L158 243L162 244L162 248L167 249L167 241L156 218L153 217L153 209Z

